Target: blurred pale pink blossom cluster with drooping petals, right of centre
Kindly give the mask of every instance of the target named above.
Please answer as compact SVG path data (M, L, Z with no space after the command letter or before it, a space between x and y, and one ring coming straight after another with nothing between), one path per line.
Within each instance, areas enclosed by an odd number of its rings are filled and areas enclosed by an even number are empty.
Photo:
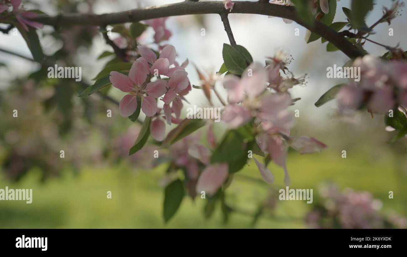
M301 153L326 148L325 144L311 137L302 136L298 139L289 137L294 116L287 110L287 107L293 104L287 90L304 82L303 78L280 76L280 70L284 74L287 72L291 74L286 67L290 60L276 56L266 62L266 67L252 63L243 71L241 78L226 75L223 86L228 91L229 105L225 107L221 118L231 128L254 122L260 149L268 152L274 163L284 169L286 184L290 183L285 165L287 145ZM263 179L272 183L274 178L271 172L263 163L256 159L255 161Z

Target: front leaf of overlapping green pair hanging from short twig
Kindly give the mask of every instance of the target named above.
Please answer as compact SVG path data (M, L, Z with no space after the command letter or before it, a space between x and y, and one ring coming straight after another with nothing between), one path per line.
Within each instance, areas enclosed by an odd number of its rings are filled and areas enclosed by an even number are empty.
M223 44L222 56L226 68L233 74L240 76L247 67L246 57L233 46Z

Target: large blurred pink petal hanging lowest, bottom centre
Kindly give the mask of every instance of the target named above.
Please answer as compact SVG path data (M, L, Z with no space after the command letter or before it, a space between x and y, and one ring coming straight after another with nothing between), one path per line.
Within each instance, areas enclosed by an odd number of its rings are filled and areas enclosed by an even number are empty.
M207 166L198 178L196 190L198 194L202 191L213 196L228 179L228 164L217 163Z

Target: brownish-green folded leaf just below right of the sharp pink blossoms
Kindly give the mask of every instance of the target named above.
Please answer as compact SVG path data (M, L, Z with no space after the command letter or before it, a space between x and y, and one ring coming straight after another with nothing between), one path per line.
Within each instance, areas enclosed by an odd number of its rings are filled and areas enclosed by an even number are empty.
M164 141L162 147L168 147L177 142L178 140L186 137L190 133L193 133L198 128L204 126L206 122L202 119L188 119L183 120L176 128L171 130Z

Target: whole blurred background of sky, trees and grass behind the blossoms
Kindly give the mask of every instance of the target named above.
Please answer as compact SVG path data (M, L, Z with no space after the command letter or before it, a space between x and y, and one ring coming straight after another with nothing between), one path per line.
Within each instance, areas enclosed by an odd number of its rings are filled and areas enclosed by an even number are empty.
M90 11L100 14L173 2L178 0L23 1L27 9L41 9L49 15ZM391 0L376 1L367 24L376 22L382 6L391 4ZM338 2L334 21L346 20L342 7L350 8L350 0ZM407 20L405 11L401 13L391 25L379 24L371 39L389 46L400 44L405 49ZM277 49L284 49L294 58L289 69L296 76L307 74L307 85L291 90L293 98L302 98L291 108L293 112L300 110L291 133L313 136L328 148L313 155L290 151L287 167L290 188L313 189L313 204L278 200L276 192L285 187L282 169L273 163L269 165L276 177L275 184L269 185L251 161L236 174L226 191L228 203L235 209L228 222L224 222L221 208L206 218L204 200L197 197L185 198L175 217L164 224L164 193L160 184L166 166L151 166L155 146L127 156L138 125L120 117L116 105L96 94L78 98L78 92L83 90L81 83L49 79L38 63L0 51L0 188L33 189L31 204L0 201L0 228L346 227L349 219L358 224L354 227L385 227L390 221L392 227L406 227L403 217L407 216L407 139L388 144L392 133L385 131L383 115L372 118L369 113L359 113L352 118L340 117L335 111L335 100L319 108L314 106L327 89L346 81L326 78L326 68L343 65L348 57L339 51L326 52L326 43L321 44L320 40L306 44L306 30L295 22L285 24L278 17L249 14L232 14L229 20L237 44L245 46L255 61L264 63ZM222 44L228 43L219 15L170 17L167 27L173 33L168 43L177 49L178 61L188 58L206 74L219 69L223 63ZM205 28L204 36L201 28ZM296 28L300 36L295 36ZM393 28L393 36L389 36L389 28ZM91 79L109 61L98 60L98 55L111 50L96 29L72 27L56 33L53 27L44 26L39 35L48 60L82 67L83 83L91 84ZM0 48L30 59L21 35L12 32L0 33ZM152 43L152 35L152 28L148 28L143 43ZM118 35L112 33L111 38L115 37ZM365 49L376 56L387 51L370 42L366 42ZM191 83L199 85L193 66L189 65L186 71ZM220 83L217 88L225 96ZM116 100L122 96L115 89L107 94ZM193 89L187 100L192 105L208 105L200 89ZM13 118L13 109L18 109L18 118ZM112 110L112 118L106 117L107 109ZM223 124L217 124L218 139L224 130ZM60 150L65 151L64 159L59 158ZM342 158L343 150L346 158ZM339 208L339 212L348 211L347 214L338 214L342 217L339 220L348 223L338 225L324 217L326 222L315 225L315 220L322 219L315 218L322 215L315 214L318 210L342 205L324 198L332 189L332 185L327 189L326 183L334 183L338 192L350 197L350 206ZM112 199L107 199L107 191L112 192ZM389 199L389 191L394 192L393 199ZM354 211L349 214L349 209ZM385 222L374 225L372 216L376 215Z

